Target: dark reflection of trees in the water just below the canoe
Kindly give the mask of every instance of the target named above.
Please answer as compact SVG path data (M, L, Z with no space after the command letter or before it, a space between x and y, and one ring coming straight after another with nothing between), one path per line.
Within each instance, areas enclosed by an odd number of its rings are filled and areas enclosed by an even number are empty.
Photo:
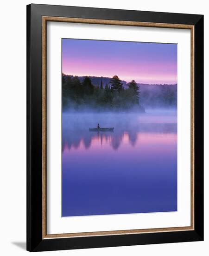
M176 134L176 123L140 123L135 127L121 128L117 127L114 131L89 131L89 129L67 128L63 129L62 150L68 148L79 148L81 144L85 149L89 149L94 141L99 141L101 147L103 142L107 142L114 150L120 148L123 141L128 141L133 147L139 140L140 133L159 133L159 134Z

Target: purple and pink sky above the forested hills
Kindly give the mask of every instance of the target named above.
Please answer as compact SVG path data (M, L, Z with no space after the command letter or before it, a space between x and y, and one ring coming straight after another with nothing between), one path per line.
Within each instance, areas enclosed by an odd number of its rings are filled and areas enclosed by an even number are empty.
M149 84L177 83L177 44L62 39L62 72L117 75Z

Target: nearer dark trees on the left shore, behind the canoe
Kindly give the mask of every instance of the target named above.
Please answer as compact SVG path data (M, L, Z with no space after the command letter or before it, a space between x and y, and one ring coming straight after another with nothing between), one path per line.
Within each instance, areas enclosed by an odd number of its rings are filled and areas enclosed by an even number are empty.
M139 102L139 86L132 80L123 87L123 83L117 75L114 75L109 84L95 86L89 76L82 81L78 76L62 74L62 99L63 108L74 106L79 108L88 106L104 109L129 109L137 106L142 108Z

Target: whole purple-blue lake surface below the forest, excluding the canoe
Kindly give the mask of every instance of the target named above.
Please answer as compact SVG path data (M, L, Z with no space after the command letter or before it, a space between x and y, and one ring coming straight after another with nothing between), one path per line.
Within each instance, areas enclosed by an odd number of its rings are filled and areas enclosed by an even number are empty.
M176 111L65 112L62 124L62 216L177 211Z

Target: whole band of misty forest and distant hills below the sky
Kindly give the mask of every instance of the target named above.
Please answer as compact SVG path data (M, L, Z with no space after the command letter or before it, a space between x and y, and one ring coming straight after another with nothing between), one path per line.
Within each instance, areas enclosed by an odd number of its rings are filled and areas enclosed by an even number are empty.
M62 105L65 109L134 110L176 108L177 84L127 83L112 78L62 74Z

